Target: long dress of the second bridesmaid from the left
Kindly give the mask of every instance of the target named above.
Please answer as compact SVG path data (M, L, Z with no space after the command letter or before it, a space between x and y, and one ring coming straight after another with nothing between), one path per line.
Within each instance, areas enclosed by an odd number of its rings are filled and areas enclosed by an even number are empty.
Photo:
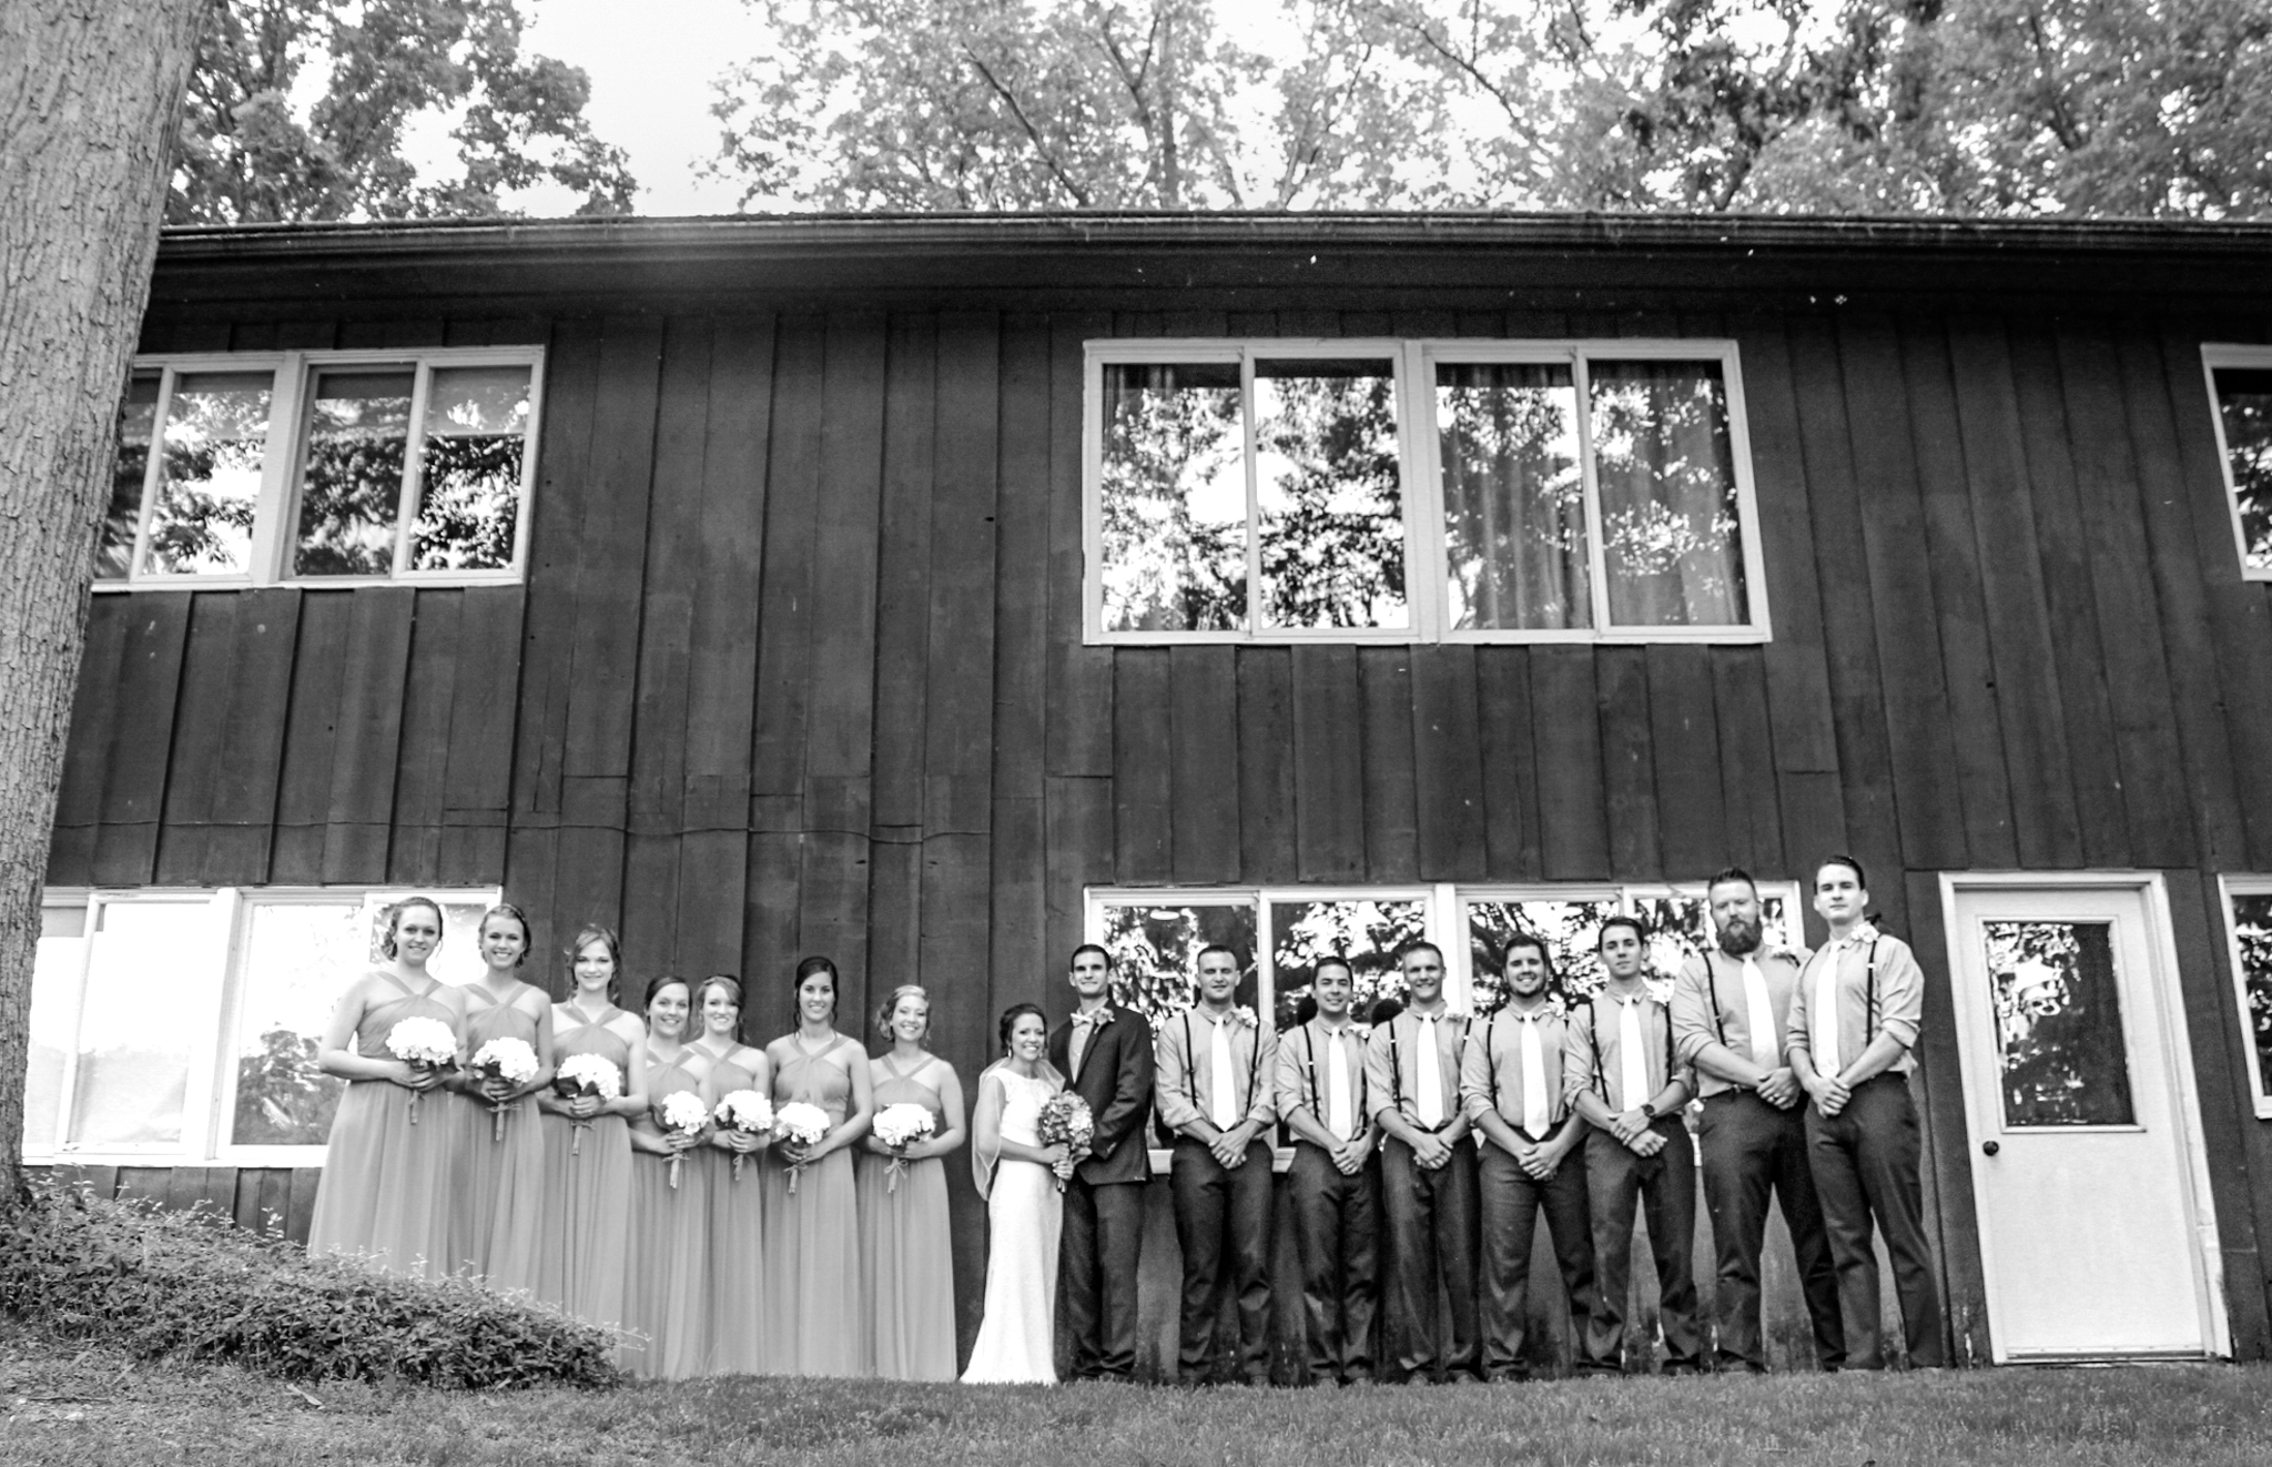
M516 1038L536 1049L536 1020L511 1001L466 988L466 1058L488 1040ZM545 1138L536 1097L504 1108L504 1131L479 1095L459 1095L457 1194L450 1199L450 1258L493 1290L536 1290L536 1233L545 1208Z

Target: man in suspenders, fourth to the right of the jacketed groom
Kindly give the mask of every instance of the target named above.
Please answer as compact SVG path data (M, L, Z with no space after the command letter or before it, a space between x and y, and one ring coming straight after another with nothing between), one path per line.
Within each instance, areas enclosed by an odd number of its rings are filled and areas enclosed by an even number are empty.
M1554 967L1529 933L1506 940L1506 1008L1470 1029L1459 1065L1461 1108L1488 1142L1477 1158L1484 1217L1484 1374L1529 1376L1531 1233L1547 1219L1570 1303L1570 1342L1584 1349L1593 1317L1593 1219L1586 1160L1572 1151L1586 1122L1563 1104L1563 1017L1547 1001Z

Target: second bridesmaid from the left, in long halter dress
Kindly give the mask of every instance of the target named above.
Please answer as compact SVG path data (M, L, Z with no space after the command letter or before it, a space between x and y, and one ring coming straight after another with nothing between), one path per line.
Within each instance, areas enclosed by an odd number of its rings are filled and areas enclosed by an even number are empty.
M450 1106L459 1126L457 1188L450 1199L450 1260L495 1290L536 1290L536 1233L545 1206L545 1138L536 1092L552 1085L552 997L523 983L529 920L518 906L482 913L482 976L466 995L463 1101ZM484 1079L473 1056L488 1040L513 1038L536 1051L536 1074L523 1083ZM504 1124L498 1124L504 1106Z

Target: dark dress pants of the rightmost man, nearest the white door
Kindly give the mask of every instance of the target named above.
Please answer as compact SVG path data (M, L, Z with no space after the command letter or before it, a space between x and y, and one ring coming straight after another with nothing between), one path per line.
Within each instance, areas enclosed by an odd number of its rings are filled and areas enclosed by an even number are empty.
M1879 1074L1854 1088L1838 1115L1806 1106L1806 1158L1822 1197L1822 1226L1838 1265L1838 1313L1845 1317L1847 1369L1883 1369L1879 1342L1877 1249L1870 1219L1886 1233L1893 1292L1902 1301L1902 1335L1911 1365L1947 1365L1940 1342L1940 1290L1924 1244L1924 1190L1918 1106L1906 1074Z

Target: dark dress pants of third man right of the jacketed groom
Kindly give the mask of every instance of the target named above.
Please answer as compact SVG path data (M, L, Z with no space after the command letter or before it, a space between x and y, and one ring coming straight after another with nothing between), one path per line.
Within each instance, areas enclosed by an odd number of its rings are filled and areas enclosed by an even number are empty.
M1413 1149L1381 1142L1381 1201L1388 1210L1388 1331L1397 1376L1479 1376L1484 1347L1475 1308L1475 1145L1452 1145L1452 1160L1434 1172ZM1436 1319L1436 1279L1443 1269L1452 1317ZM1447 1328L1445 1328L1447 1326ZM1450 1342L1445 1342L1450 1333Z

